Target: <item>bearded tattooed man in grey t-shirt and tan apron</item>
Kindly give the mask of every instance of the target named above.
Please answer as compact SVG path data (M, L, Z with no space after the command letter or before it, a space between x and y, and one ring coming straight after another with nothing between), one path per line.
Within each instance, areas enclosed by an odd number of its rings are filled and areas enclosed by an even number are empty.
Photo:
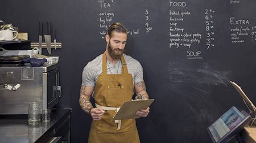
M143 69L138 60L123 54L127 29L121 23L113 23L105 38L104 54L89 62L82 72L79 102L93 119L88 142L138 143L135 119L113 120L113 116L125 101L131 100L134 89L137 96L148 99ZM95 107L90 102L93 93ZM136 114L146 117L149 112L147 107Z

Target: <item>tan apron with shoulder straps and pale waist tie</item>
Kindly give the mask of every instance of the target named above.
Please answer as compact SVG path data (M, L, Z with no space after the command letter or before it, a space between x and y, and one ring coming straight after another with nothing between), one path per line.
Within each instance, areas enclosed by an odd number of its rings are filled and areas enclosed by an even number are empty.
M106 52L102 55L102 75L98 76L94 99L96 106L104 109L105 113L101 120L92 121L89 143L140 142L135 119L119 120L121 123L113 120L117 108L125 101L131 100L133 96L133 76L128 73L123 55L121 61L123 64L121 74L108 75Z

